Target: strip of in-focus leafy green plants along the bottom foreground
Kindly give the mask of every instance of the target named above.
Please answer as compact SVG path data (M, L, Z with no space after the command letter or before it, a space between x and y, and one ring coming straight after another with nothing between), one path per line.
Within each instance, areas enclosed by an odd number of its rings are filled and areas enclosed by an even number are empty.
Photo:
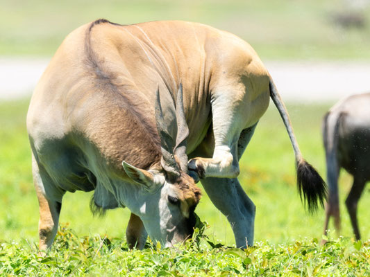
M147 244L78 237L62 227L46 258L27 240L0 242L1 276L369 276L370 244L346 238L320 246L316 239L290 244L257 242L241 250L214 244L196 229L185 245Z

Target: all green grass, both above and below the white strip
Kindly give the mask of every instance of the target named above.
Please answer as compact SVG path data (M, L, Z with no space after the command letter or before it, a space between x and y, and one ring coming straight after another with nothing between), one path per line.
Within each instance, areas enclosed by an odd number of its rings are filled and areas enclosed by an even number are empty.
M180 19L235 33L262 60L370 60L370 6L364 26L343 28L343 0L0 0L0 55L47 56L74 28L98 18L119 24ZM288 105L305 159L325 177L321 118L333 103ZM294 154L280 116L270 107L241 161L239 180L257 206L255 247L235 249L226 218L203 195L196 213L207 222L187 244L148 243L128 251L130 212L92 217L91 193L67 193L60 229L46 258L37 251L38 204L25 118L28 99L0 102L0 276L370 276L370 197L359 204L362 241L353 239L344 199L351 177L342 172L342 235L320 245L324 211L305 212L294 176ZM201 186L199 184L199 186ZM333 228L333 224L330 224Z

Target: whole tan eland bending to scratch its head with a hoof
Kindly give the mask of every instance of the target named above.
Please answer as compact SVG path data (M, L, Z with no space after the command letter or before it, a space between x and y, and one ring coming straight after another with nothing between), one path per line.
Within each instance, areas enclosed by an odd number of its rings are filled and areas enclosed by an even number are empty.
M188 134L184 124L176 127L180 82ZM155 113L158 89L161 112ZM143 247L146 231L167 246L183 240L199 202L187 172L201 179L226 215L237 247L253 244L255 206L237 181L238 161L270 96L292 141L298 188L312 210L322 204L325 184L303 160L274 82L249 44L183 21L122 26L99 19L74 30L28 110L40 248L56 234L62 196L75 190L95 190L92 206L131 210L131 247Z

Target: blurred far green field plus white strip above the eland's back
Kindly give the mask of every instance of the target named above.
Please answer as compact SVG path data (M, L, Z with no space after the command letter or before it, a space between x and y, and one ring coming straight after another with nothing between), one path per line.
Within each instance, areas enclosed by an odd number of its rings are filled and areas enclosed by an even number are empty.
M369 0L1 0L0 16L0 99L29 94L62 39L99 18L199 21L235 33L255 48L287 100L363 92L370 72Z

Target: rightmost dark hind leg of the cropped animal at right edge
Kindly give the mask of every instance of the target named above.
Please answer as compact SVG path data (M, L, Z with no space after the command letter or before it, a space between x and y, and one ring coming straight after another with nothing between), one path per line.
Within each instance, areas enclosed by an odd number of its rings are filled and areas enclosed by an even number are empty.
M361 197L365 184L366 181L364 181L364 179L354 176L351 191L349 192L348 197L346 199L346 206L349 213L349 217L351 218L353 232L355 233L356 240L360 240L360 230L358 229L358 219L357 219L358 200Z

